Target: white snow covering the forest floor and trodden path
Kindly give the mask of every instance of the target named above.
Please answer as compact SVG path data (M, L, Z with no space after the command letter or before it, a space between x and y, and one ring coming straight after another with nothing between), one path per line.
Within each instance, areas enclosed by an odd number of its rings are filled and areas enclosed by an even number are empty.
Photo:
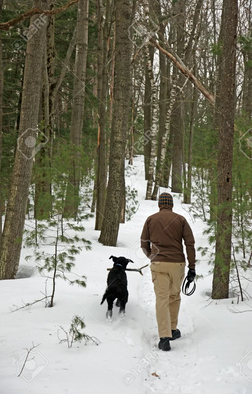
M35 263L31 261L22 270L31 277L0 281L0 394L252 392L252 315L228 311L232 299L217 302L209 299L206 292L211 291L211 276L197 281L191 297L182 295L178 325L182 336L171 342L172 350L168 353L157 349L155 295L149 268L143 270L144 276L127 273L126 316L119 318L114 307L113 320L106 321L106 303L101 306L100 301L106 288L106 268L111 266L109 257L129 257L137 267L147 264L139 249L139 239L144 221L158 210L156 201L144 200L142 157L136 158L134 166L133 175L126 178L126 183L138 190L140 206L131 221L120 225L117 247L98 242L94 219L84 223L83 235L92 242L92 250L77 256L75 272L87 276L86 289L57 280L53 308L46 309L44 304L37 303L30 309L10 312L13 304L41 298L45 279L33 269ZM176 195L173 197L173 210L185 216L192 227L195 247L207 246L206 236L202 235L205 223L193 223L181 200ZM22 254L26 251L22 249ZM199 253L196 257L201 260ZM198 274L206 274L208 270L206 260L196 266ZM50 294L49 286L47 294ZM235 307L249 309L241 302ZM58 326L68 329L75 314L84 318L85 332L96 336L101 342L99 346L75 343L68 349L66 343L59 344ZM18 377L17 368L22 368L27 353L24 349L30 348L32 342L40 345Z

